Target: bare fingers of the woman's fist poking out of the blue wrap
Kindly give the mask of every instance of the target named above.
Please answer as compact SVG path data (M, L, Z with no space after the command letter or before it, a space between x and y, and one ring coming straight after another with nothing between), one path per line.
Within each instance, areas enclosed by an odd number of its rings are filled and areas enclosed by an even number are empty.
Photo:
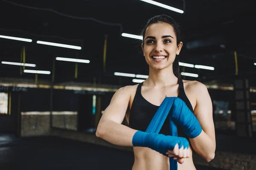
M189 148L184 149L181 147L179 149L179 145L176 144L173 150L167 150L166 154L169 157L173 157L177 162L182 164L185 158L189 158Z

